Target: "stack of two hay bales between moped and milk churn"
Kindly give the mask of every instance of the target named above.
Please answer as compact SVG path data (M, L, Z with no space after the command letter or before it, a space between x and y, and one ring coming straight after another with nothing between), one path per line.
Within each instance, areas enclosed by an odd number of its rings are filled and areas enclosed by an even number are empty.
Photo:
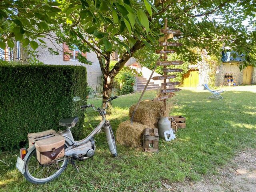
M130 107L130 118L132 117L135 106L136 104ZM133 124L131 124L130 120L127 120L118 126L116 130L116 141L119 144L130 147L142 146L144 129L157 127L156 118L160 117L163 110L163 102L151 100L140 102L133 118Z

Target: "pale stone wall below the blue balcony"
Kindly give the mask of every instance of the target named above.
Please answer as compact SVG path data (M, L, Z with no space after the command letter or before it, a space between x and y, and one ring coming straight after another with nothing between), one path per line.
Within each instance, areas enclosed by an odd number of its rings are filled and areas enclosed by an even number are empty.
M226 73L232 73L237 85L243 83L243 70L240 72L239 63L222 63L216 71L216 86L223 86Z

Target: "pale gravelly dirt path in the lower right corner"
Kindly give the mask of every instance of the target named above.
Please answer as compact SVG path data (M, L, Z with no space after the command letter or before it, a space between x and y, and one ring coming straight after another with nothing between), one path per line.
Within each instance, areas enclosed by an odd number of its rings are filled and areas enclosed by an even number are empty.
M218 173L199 182L164 184L162 191L256 192L256 149L241 152L224 168L219 168Z

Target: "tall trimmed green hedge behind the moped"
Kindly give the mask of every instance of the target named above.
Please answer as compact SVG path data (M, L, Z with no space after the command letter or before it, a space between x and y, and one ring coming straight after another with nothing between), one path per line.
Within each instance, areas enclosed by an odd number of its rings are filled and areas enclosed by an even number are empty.
M84 114L77 110L86 99L86 68L60 65L0 65L0 144L7 150L25 146L27 134L64 129L58 120L78 116L75 139L83 134Z

